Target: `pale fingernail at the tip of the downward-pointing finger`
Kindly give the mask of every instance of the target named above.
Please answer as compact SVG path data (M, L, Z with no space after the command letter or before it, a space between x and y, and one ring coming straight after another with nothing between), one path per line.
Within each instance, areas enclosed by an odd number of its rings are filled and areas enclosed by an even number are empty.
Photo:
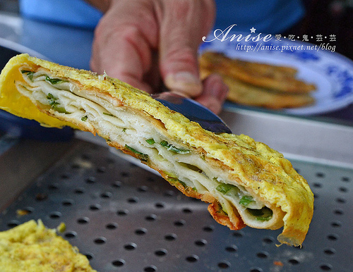
M169 89L177 89L191 97L197 96L202 91L201 80L189 72L169 74L164 83Z

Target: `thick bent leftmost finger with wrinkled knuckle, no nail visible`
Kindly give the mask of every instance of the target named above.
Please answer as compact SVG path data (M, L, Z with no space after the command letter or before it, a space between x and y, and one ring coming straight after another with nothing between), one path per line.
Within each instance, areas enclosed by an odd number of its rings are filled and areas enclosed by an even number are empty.
M114 3L116 6L104 15L95 30L91 68L152 92L150 85L144 82L144 75L151 66L151 40L157 39L155 20L147 18L150 12L142 11L142 8L136 12L132 2ZM131 20L133 16L138 18Z

